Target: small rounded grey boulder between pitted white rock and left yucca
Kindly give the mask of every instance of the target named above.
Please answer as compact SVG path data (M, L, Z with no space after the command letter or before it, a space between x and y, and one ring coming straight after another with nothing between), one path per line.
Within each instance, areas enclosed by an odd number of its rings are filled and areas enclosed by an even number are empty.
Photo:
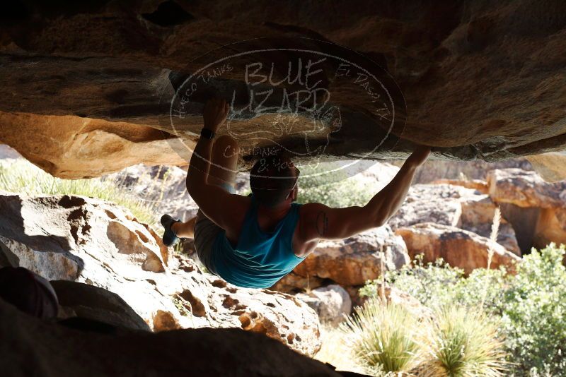
M340 285L328 285L313 289L308 293L295 295L301 301L306 302L318 314L320 322L336 326L350 316L352 311L352 300L348 292Z

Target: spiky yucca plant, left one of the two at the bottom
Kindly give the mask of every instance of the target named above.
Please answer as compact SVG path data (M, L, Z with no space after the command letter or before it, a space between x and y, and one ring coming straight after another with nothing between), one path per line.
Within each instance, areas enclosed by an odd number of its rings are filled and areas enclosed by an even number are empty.
M417 318L399 304L373 298L342 323L347 345L368 371L408 372L422 361Z

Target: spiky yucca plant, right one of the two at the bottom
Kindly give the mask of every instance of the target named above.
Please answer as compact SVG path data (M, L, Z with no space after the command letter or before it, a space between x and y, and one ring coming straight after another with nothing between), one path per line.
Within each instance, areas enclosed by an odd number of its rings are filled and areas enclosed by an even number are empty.
M462 306L437 309L430 328L427 361L418 376L504 376L504 345L497 325L480 311Z

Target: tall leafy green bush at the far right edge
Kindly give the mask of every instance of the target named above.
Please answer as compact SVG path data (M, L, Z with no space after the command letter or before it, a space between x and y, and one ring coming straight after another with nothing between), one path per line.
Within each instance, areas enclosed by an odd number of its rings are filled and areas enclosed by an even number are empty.
M566 375L564 246L533 249L502 296L502 331L517 375Z

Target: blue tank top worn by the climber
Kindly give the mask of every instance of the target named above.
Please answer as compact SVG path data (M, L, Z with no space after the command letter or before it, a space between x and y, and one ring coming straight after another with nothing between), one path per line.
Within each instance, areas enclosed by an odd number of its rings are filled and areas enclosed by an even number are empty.
M258 203L251 197L251 205L233 248L226 232L219 232L212 246L215 273L238 287L268 288L290 273L304 261L293 252L292 241L299 221L300 204L291 203L289 213L267 233L258 224Z

